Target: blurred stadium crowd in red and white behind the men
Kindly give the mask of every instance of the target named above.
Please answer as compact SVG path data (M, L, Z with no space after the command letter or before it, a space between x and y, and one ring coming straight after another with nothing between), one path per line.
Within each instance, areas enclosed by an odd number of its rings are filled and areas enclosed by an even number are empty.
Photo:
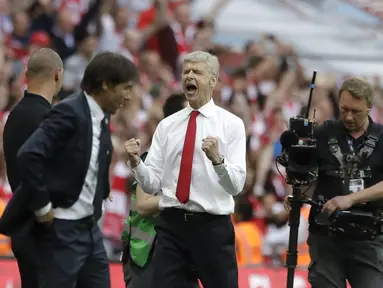
M191 3L185 0L0 0L2 125L23 96L26 60L35 49L51 47L64 60L64 83L57 101L80 90L85 67L99 51L120 52L139 67L140 98L132 99L111 121L113 201L105 202L100 222L111 259L118 259L121 249L133 181L125 166L123 143L135 137L141 139L143 150L150 147L163 118L162 104L169 95L181 93L183 55L205 50L217 55L221 63L214 101L242 118L248 136L247 181L236 198L233 215L239 265L278 265L284 260L289 228L283 199L288 187L279 173L283 175L283 169L277 168L274 159L281 151L279 135L288 119L305 109L310 79L294 47L274 35L256 35L242 51L215 44L214 19L229 2L216 1L209 14L194 19ZM317 122L338 117L338 83L347 76L320 75L312 106ZM371 116L383 123L380 79L374 81L377 97ZM2 153L0 159L1 213L12 193ZM308 208L303 207L302 212L299 264L307 265ZM11 255L9 245L7 238L0 239L0 255Z

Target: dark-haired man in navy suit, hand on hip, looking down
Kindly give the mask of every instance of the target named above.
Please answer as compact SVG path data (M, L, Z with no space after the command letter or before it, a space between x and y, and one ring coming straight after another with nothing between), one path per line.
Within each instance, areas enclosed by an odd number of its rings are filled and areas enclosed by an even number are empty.
M118 53L98 54L83 92L55 105L18 152L22 193L41 223L40 288L109 288L97 221L109 195L109 115L136 93L139 74Z

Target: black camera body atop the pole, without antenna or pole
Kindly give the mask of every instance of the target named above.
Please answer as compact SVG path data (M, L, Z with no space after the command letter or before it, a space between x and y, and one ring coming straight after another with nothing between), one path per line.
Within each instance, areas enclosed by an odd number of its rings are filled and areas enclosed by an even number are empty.
M303 116L290 118L290 129L281 135L283 152L277 162L286 168L286 183L309 185L318 177L315 122Z

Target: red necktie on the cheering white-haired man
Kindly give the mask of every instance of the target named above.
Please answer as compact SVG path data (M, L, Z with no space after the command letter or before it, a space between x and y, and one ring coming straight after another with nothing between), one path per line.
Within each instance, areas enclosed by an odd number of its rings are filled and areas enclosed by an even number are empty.
M180 174L178 175L176 196L178 201L183 204L189 200L195 135L197 132L196 118L198 114L199 112L194 110L190 115L188 129L186 130L184 149L182 150L181 167Z

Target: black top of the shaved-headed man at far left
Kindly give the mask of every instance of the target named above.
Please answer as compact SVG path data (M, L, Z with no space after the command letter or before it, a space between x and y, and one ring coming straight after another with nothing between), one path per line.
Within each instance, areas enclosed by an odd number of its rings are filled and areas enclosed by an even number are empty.
M8 116L3 132L3 149L7 166L7 177L12 192L15 192L20 184L19 171L16 163L17 152L37 127L39 127L39 124L43 121L44 116L49 112L50 108L51 104L45 98L40 95L25 92L24 97L12 109ZM26 194L24 196L28 195ZM24 205L28 203L28 199L26 198L18 203ZM25 212L23 219L31 219L29 224L33 224L34 216L32 212L27 209L22 209L21 207L20 209ZM12 211L8 211L8 213L14 213L20 209L13 206ZM3 215L6 215L6 213L4 212ZM5 218L4 216L4 219ZM3 222L2 220L3 218L0 220L0 223ZM30 225L26 225L25 229L22 230L23 231L20 231L22 234L23 232L28 234Z

